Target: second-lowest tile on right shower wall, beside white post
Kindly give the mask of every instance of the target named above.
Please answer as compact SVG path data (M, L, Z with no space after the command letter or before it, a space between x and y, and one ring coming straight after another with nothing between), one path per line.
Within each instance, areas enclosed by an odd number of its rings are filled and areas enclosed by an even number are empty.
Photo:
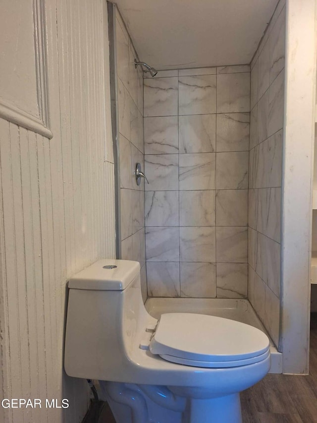
M276 297L279 297L281 246L278 242L259 233L256 250L257 260L255 271Z

